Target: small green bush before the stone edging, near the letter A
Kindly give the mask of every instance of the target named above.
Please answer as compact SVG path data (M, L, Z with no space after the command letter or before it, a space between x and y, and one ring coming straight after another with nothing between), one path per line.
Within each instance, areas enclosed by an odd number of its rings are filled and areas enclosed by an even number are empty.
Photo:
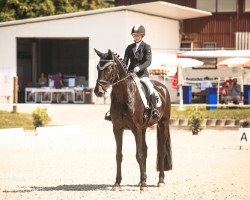
M202 123L204 120L203 113L201 111L192 111L189 114L189 124L191 125L191 130L193 135L198 135L202 130Z

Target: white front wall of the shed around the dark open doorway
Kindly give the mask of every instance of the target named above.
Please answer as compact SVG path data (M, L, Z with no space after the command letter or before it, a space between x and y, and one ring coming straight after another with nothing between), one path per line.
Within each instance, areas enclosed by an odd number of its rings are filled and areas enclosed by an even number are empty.
M0 67L16 68L17 37L87 37L89 38L89 82L93 86L96 78L95 66L98 60L94 48L104 52L108 48L121 52L124 46L122 41L125 41L123 19L124 12L112 12L0 27L0 52L3 52L0 54Z

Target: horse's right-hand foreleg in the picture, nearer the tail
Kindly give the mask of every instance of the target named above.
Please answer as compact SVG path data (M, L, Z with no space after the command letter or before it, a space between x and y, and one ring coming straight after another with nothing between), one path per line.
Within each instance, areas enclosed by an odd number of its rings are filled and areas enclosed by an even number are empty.
M136 160L140 167L140 189L146 190L147 188L147 174L146 174L146 158L144 155L145 147L144 147L144 141L143 134L141 131L134 132L135 134L135 141L136 141ZM144 148L143 148L144 147Z

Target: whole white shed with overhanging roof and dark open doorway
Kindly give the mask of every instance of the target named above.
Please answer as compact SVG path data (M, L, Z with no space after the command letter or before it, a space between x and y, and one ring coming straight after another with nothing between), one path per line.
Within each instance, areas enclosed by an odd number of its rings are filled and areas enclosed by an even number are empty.
M40 73L76 77L76 85L94 87L98 56L94 48L123 56L132 42L131 28L143 24L154 52L176 53L180 20L211 13L165 2L118 6L57 16L0 23L0 102L13 99L19 87L35 87ZM24 90L24 88L22 88Z

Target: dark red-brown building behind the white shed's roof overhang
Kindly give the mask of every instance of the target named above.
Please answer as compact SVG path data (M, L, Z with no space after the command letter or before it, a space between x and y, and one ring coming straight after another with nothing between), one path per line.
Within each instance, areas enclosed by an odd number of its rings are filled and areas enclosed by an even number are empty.
M192 49L250 50L250 0L164 0L213 13L181 21L181 47ZM155 0L115 0L115 5L132 5Z

